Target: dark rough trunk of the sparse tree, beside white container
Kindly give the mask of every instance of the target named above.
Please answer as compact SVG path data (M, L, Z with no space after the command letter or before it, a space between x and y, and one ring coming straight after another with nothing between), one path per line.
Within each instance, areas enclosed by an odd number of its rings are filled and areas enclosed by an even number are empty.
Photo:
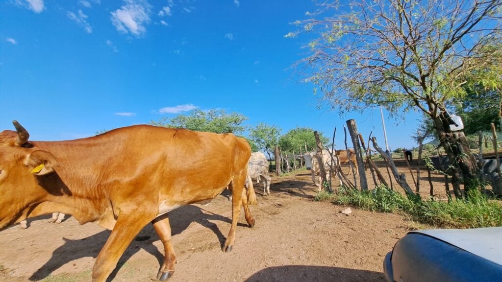
M451 131L450 117L446 111L438 117L432 118L441 146L444 148L450 164L457 173L452 173L453 192L457 198L461 198L460 179L458 172L462 173L464 180L464 192L478 188L476 175L478 167L472 155L467 139L463 131Z

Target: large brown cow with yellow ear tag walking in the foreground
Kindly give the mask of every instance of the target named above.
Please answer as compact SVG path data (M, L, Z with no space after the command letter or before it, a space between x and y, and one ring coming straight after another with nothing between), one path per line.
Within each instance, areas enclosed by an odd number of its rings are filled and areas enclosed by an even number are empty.
M0 132L0 230L52 212L110 229L92 281L106 280L149 222L164 244L157 278L169 278L176 256L168 212L212 199L227 186L232 223L223 250L232 249L241 206L249 226L255 224L248 206L256 203L255 191L248 188L242 197L251 149L231 133L134 125L89 138L35 142L14 125L17 132Z

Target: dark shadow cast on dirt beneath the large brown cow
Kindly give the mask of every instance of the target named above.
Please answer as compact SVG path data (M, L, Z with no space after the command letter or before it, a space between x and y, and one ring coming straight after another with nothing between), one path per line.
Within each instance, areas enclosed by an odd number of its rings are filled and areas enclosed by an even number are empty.
M210 229L218 238L220 246L223 247L225 243L225 235L219 230L216 223L211 221L223 221L226 223L231 223L231 219L204 210L201 207L194 205L187 205L179 207L173 211L169 212L169 221L171 225L172 235L177 235L188 228L192 222L196 222L204 227ZM237 226L247 227L246 224L238 223ZM46 278L54 270L58 269L62 265L69 263L73 260L83 258L83 257L93 257L96 258L99 251L106 243L111 231L103 230L99 233L85 237L82 239L67 239L63 238L64 244L52 253L51 258L35 273L30 276L30 280L37 281ZM164 259L164 249L161 247L159 250L153 242L160 240L152 224L145 226L138 236L131 242L129 247L124 251L117 266L111 272L107 281L111 281L115 278L118 270L126 263L134 254L136 254L141 249L147 251L148 253L155 256L159 262L159 267ZM174 246L176 249L176 246ZM162 251L162 252L161 252Z

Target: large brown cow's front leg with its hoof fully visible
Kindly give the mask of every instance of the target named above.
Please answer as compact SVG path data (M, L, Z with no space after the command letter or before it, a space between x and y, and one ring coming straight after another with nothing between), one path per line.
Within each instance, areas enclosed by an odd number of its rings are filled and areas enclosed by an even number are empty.
M176 262L176 254L171 243L171 225L167 214L154 219L152 223L162 244L164 244L164 263L157 274L157 279L163 281L173 276L174 263Z

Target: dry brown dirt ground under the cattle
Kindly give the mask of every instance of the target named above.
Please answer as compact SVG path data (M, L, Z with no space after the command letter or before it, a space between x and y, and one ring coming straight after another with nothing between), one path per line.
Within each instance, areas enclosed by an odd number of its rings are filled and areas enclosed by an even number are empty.
M372 182L369 170L367 176ZM178 263L169 281L385 281L384 256L416 226L401 215L352 208L346 216L340 213L346 207L313 201L308 171L273 177L272 182L270 196L255 185L259 204L251 211L256 225L249 228L241 212L230 253L221 251L230 228L227 193L207 206L170 212ZM426 178L423 185L428 191ZM79 225L72 217L53 224L49 217L31 220L25 230L16 225L0 232L0 280L90 281L95 257L110 232L93 223ZM162 253L148 225L108 280L151 281Z

